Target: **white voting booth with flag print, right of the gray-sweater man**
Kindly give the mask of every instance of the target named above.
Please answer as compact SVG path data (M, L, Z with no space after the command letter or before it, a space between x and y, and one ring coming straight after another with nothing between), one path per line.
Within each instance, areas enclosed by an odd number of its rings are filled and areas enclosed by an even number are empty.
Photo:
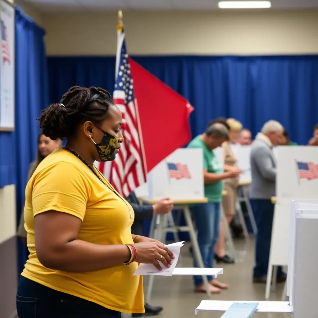
M318 193L318 147L277 147L275 212L265 298L269 298L273 266L287 266L291 200L314 200Z

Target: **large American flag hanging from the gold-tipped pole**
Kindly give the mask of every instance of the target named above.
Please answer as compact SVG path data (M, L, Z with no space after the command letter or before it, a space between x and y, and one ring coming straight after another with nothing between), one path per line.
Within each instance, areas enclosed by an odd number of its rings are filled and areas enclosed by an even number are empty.
M127 197L135 188L146 182L147 169L125 33L121 27L118 29L113 100L121 110L124 142L116 159L111 162L109 182L121 195Z

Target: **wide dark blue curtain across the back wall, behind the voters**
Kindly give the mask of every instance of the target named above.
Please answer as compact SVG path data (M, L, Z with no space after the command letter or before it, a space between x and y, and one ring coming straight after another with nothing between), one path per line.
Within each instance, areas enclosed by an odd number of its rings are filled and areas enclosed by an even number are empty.
M195 107L192 136L218 116L238 119L253 135L275 119L293 141L307 144L318 122L317 55L134 59ZM114 89L114 57L49 57L48 65L50 102L59 101L73 85Z

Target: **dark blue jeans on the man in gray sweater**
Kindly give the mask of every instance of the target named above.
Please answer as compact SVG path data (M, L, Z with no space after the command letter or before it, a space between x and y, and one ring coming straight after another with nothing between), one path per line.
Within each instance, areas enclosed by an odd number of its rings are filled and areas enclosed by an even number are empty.
M253 277L261 277L267 275L272 238L274 204L271 200L251 199L251 206L257 224ZM278 266L277 276L281 276L282 274L284 274L282 267Z

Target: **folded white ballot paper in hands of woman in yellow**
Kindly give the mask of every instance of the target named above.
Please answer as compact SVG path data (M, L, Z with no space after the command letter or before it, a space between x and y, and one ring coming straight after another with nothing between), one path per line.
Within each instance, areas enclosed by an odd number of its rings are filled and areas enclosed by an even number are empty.
M137 270L135 271L134 275L172 276L172 272L175 269L177 261L179 259L181 246L183 246L184 242L185 241L165 245L168 247L168 249L172 252L172 254L175 257L174 259L172 259L172 265L170 265L169 268L164 266L162 262L158 260L160 266L162 267L161 271L158 271L156 267L152 264L140 264Z

